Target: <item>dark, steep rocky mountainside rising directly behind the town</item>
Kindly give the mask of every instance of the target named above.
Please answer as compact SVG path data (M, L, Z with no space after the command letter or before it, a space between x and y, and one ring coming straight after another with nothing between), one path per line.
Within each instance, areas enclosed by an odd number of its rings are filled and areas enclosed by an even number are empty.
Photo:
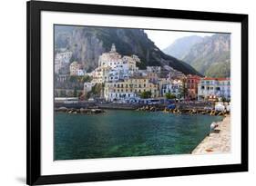
M119 54L138 55L139 69L147 65L169 65L181 73L200 75L189 64L161 52L142 29L56 25L55 35L55 52L67 48L73 52L71 61L85 64L87 71L96 68L99 55L116 44Z

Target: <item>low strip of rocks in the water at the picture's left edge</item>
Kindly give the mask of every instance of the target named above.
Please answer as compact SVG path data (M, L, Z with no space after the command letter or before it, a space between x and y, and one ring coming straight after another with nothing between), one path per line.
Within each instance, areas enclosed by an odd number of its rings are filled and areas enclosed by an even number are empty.
M71 108L71 109L68 109L66 107L56 108L55 112L60 112L60 113L83 113L83 114L106 113L104 110L98 109L98 108L96 108L96 109L85 109L85 108L80 108L80 109Z

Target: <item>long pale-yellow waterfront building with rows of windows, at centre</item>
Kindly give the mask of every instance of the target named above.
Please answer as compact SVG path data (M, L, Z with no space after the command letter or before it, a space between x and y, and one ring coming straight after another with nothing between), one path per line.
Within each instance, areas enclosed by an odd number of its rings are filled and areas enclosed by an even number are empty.
M151 97L159 97L159 86L148 77L132 77L117 83L106 83L104 96L108 101L138 98L140 93L150 92Z

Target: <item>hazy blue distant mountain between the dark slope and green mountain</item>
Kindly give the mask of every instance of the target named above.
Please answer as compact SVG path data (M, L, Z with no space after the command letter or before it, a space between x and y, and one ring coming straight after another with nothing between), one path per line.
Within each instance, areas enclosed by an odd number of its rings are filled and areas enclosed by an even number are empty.
M194 44L198 44L202 42L202 40L203 37L197 35L181 37L175 40L173 44L170 44L167 48L165 48L163 52L178 59L182 59L189 53L190 48Z

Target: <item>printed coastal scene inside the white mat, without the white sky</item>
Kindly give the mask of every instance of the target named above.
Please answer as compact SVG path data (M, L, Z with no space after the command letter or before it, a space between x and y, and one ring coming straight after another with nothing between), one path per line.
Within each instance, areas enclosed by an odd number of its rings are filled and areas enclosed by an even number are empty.
M231 151L230 34L55 31L55 160Z

